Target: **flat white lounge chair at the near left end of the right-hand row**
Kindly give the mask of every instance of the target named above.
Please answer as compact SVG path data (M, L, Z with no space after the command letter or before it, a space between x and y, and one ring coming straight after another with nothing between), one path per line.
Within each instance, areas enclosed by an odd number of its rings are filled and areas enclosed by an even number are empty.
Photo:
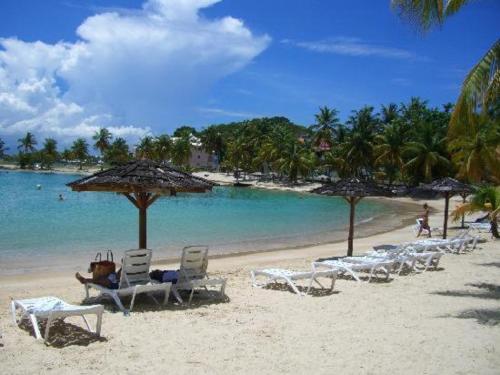
M263 287L271 282L277 282L278 280L285 281L292 290L300 296L305 296L309 294L313 282L316 282L322 289L324 289L323 285L319 282L319 277L327 277L331 279L330 291L333 290L335 286L335 280L337 279L337 270L327 270L327 271L305 271L305 272L297 272L285 270L282 268L266 268L262 270L253 270L250 271L250 275L252 277L252 286L254 287ZM257 277L264 276L266 280L264 282L258 282ZM302 293L295 285L296 280L308 280L307 290L305 293Z

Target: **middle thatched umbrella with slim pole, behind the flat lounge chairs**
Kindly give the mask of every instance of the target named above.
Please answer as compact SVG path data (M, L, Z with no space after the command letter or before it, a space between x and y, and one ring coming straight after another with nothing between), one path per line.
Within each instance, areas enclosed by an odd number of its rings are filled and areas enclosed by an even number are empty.
M363 181L357 178L340 180L331 185L324 185L312 191L316 194L333 195L344 198L350 206L349 215L349 237L347 245L347 255L351 256L353 251L354 238L354 211L356 204L364 197L374 196L390 196L392 195L388 189L385 189L373 182Z

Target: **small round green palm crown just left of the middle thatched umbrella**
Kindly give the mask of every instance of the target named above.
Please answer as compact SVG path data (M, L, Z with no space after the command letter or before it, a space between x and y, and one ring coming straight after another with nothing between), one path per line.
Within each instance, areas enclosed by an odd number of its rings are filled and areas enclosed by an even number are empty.
M316 155L299 142L295 142L285 150L278 160L279 169L288 175L294 184L299 176L307 177L316 163Z

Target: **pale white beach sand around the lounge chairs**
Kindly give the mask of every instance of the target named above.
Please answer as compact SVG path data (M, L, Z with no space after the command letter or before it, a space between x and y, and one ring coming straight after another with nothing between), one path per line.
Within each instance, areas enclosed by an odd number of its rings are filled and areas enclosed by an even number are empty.
M431 217L432 225L440 222L440 216ZM361 252L412 237L403 228L355 240L355 247ZM499 242L446 255L439 271L395 276L388 283L338 280L330 295L316 290L301 298L286 288L250 286L253 268L307 269L312 260L343 255L345 248L339 243L211 260L209 269L228 279L230 302L197 298L191 307L161 309L140 298L130 317L112 312L108 304L104 341L61 325L50 347L13 326L9 297L56 295L79 303L81 285L70 275L43 282L31 276L2 278L0 373L500 373Z

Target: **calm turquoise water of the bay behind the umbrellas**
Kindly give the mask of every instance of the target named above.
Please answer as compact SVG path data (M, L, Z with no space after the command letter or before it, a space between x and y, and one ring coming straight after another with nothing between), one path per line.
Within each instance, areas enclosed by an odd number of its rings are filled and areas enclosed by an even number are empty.
M137 209L113 193L71 192L65 183L78 177L0 172L0 272L28 260L89 258L97 250L137 246ZM59 201L59 194L66 199ZM362 202L356 219L387 210ZM148 210L148 247L168 257L188 244L219 253L300 245L344 231L347 218L341 198L217 187L156 201Z

